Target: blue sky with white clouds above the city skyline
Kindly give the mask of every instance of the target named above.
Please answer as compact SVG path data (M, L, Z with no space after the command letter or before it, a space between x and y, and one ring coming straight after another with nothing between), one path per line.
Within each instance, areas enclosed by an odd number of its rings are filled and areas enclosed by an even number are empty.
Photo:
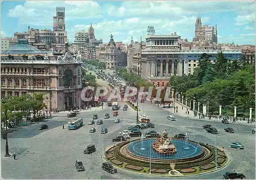
M255 44L255 1L2 1L1 36L14 32L53 29L56 7L66 9L66 31L70 42L75 32L92 23L97 39L129 43L146 37L148 26L155 34L177 32L189 41L195 36L197 16L203 25L215 26L219 43Z

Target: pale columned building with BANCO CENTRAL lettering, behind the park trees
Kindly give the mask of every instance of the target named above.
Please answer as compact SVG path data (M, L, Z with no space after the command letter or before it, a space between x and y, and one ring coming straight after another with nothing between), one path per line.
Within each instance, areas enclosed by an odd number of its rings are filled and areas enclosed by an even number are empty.
M146 47L141 50L141 77L156 86L166 86L170 76L190 75L197 68L203 53L215 63L219 52L229 61L239 59L241 50L182 50L176 33L170 35L150 35L146 37ZM137 73L137 72L134 72Z

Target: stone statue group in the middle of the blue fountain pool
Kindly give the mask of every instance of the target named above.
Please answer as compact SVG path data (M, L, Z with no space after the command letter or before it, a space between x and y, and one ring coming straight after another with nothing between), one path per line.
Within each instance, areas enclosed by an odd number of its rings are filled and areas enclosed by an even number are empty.
M157 141L153 143L153 148L161 154L175 154L177 152L176 147L172 143L172 139L168 138L166 129L164 129L162 136L159 136Z

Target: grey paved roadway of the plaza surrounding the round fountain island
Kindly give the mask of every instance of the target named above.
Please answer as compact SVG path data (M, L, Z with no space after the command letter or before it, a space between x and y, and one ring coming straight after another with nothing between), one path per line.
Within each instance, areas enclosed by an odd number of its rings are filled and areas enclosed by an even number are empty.
M122 107L125 102L120 102L118 118L122 118L122 128L125 129L136 122L136 111L130 106L127 111L123 111ZM155 130L162 133L166 128L170 137L175 134L185 133L188 126L189 140L194 140L202 143L215 145L215 135L207 133L202 126L211 124L219 131L217 135L217 145L221 149L225 148L229 155L230 163L225 168L217 172L173 178L201 178L201 179L220 179L222 175L228 171L236 169L238 172L245 174L246 178L252 179L255 176L255 134L251 133L251 124L230 123L223 124L220 121L206 121L186 117L158 107L150 102L138 103L139 115L146 114L151 118L151 122L155 123L155 128L141 130L142 133L149 130ZM104 119L104 114L109 113L110 119ZM63 179L131 179L131 178L167 178L159 176L150 176L137 173L131 173L124 170L119 170L116 174L109 174L101 169L102 154L105 147L116 144L112 142L112 138L118 135L121 131L121 123L114 123L113 111L104 103L101 107L94 107L89 110L82 110L78 117L84 118L84 126L77 130L68 130L67 123L70 118L67 118L68 111L63 111L58 114L52 114L53 118L46 122L33 124L23 127L8 134L10 153L16 153L17 160L13 158L2 158L2 177L4 179L28 179L28 178L63 178ZM88 125L88 121L92 120L94 114L98 114L99 119L103 120L102 125ZM167 119L168 115L177 117L177 121ZM71 118L72 119L72 118ZM40 124L47 124L49 129L39 131L37 127ZM62 124L65 124L65 129L62 129ZM90 133L91 127L96 128L96 132ZM100 134L102 127L108 128L109 132ZM235 133L230 134L224 131L225 127L232 127ZM133 138L136 139L136 138ZM239 141L244 144L245 149L233 149L228 147L228 143ZM5 153L5 140L1 140L2 156ZM83 154L86 146L95 144L96 152L92 154ZM75 161L82 160L86 171L77 172ZM170 178L170 177L169 177Z

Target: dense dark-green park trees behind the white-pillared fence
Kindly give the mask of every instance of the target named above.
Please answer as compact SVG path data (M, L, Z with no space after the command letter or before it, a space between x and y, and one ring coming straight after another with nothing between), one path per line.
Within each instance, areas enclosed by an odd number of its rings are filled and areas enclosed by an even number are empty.
M219 105L224 109L237 106L246 111L255 104L254 65L249 64L245 56L229 62L223 53L219 53L216 63L212 64L204 53L193 75L172 76L169 84L190 100L208 101L209 111L218 110Z

